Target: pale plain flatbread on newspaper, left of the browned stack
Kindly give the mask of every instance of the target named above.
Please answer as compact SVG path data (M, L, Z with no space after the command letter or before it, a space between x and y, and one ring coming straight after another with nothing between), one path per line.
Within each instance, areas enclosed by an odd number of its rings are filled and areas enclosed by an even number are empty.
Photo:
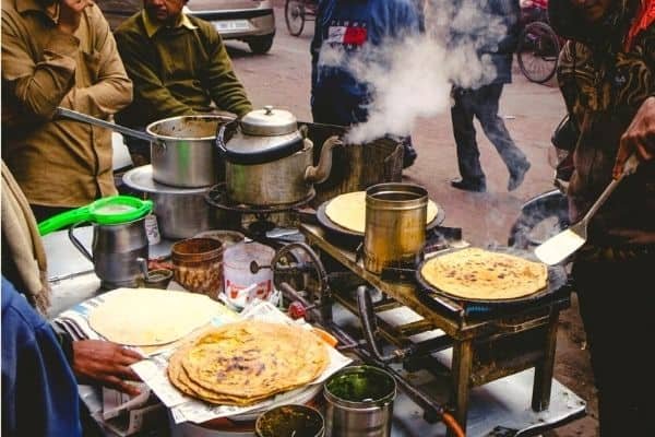
M91 310L88 324L105 339L131 346L171 343L209 323L221 304L188 292L124 288Z

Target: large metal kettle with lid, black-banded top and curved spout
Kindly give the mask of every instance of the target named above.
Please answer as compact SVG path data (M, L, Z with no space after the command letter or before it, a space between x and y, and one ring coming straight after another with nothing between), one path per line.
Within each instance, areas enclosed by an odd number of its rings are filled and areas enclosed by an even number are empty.
M313 143L291 113L273 106L250 111L216 134L225 158L227 198L260 206L309 201L315 193L313 185L330 176L332 149L341 143L329 138L313 166Z

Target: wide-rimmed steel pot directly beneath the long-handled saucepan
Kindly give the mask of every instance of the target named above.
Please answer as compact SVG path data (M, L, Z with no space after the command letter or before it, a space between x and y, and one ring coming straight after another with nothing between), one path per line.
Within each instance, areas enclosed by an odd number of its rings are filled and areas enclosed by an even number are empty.
M157 216L159 233L164 238L191 238L218 224L216 213L205 202L211 187L176 188L157 184L153 178L152 165L126 173L123 182L153 201L153 213Z

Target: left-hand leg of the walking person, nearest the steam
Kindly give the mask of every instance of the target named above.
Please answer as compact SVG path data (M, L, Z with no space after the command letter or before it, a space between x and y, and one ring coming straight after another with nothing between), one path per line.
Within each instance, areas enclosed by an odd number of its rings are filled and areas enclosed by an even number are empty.
M453 93L454 105L451 108L451 119L462 180L453 181L452 185L455 188L464 189L466 189L466 186L471 186L472 188L478 188L475 191L484 191L486 189L486 178L480 166L480 152L475 140L476 132L473 126L475 114L474 93L469 90L458 90Z

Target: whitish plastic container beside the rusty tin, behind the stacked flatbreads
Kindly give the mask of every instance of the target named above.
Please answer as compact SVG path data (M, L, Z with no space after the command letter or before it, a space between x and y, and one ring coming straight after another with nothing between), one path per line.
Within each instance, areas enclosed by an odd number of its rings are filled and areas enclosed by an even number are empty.
M224 293L230 304L242 308L255 297L262 300L269 298L273 292L273 271L269 265L274 256L273 248L260 243L238 243L225 249ZM252 273L252 261L266 268ZM251 285L253 287L249 288Z

